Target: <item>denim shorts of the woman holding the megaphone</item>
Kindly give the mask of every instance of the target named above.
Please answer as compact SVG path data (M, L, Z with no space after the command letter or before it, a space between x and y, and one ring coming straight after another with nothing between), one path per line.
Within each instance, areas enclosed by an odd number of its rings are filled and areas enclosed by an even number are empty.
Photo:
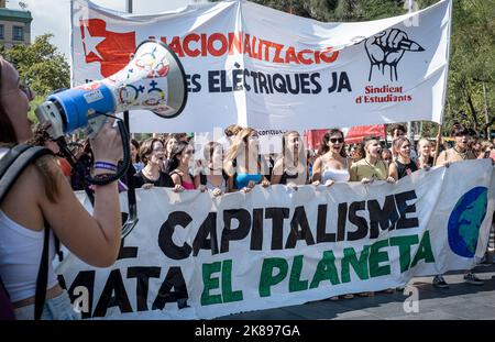
M14 309L18 320L34 320L34 304ZM45 300L43 306L42 320L79 320L80 313L76 312L70 304L67 291L63 291L57 297Z

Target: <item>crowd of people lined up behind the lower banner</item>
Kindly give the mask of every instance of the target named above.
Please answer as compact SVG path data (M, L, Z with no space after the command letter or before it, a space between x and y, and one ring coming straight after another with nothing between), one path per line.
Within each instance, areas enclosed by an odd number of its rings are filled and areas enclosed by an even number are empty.
M395 183L418 169L452 162L493 157L494 143L476 139L462 124L454 124L454 146L446 142L435 157L435 141L421 137L417 143L406 136L402 124L391 126L392 144L369 136L363 143L348 145L339 129L329 130L318 151L305 147L301 135L288 131L280 139L278 153L261 154L256 130L232 124L217 142L202 146L193 134L154 134L142 142L131 140L132 176L136 188L169 187L175 191L209 190L213 196L250 191L255 185L283 184L290 187L312 184L331 186L342 181ZM273 143L273 140L272 140ZM84 189L90 173L92 154L87 141L72 144L76 169L64 172L75 190ZM199 147L200 151L196 151ZM54 148L56 152L56 147ZM63 163L63 169L67 169ZM129 183L128 177L121 179Z

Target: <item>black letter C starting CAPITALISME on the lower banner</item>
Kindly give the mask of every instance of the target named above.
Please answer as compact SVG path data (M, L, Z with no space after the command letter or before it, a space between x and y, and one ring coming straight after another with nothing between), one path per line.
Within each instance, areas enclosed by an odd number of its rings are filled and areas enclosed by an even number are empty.
M184 211L170 212L168 219L160 228L158 246L162 252L172 260L184 260L190 255L191 247L187 242L183 246L178 246L172 240L175 228L180 225L186 228L193 221L191 217Z

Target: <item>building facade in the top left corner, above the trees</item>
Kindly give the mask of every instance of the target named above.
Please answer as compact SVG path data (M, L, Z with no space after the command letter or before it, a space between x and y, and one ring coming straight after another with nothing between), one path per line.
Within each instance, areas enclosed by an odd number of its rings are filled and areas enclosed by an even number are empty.
M6 0L0 0L0 45L11 48L18 44L31 43L30 11L11 10L6 8Z

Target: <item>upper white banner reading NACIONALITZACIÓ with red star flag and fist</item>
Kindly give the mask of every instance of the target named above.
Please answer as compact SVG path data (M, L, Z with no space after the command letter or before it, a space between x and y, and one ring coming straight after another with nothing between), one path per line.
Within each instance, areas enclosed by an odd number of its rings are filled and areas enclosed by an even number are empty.
M451 7L444 0L414 14L322 23L243 0L153 15L73 0L73 84L109 77L141 42L157 38L184 65L188 102L174 119L133 112L134 132L441 122Z

